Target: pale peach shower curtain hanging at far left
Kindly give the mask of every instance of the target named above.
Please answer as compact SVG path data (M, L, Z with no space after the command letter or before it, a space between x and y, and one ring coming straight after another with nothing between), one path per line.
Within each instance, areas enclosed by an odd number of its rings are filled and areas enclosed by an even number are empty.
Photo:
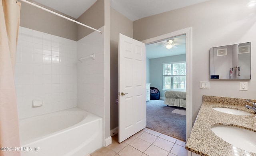
M14 86L14 67L20 2L1 0L0 3L0 156L20 156L18 109ZM11 147L7 150L5 147ZM13 148L13 150L12 150Z

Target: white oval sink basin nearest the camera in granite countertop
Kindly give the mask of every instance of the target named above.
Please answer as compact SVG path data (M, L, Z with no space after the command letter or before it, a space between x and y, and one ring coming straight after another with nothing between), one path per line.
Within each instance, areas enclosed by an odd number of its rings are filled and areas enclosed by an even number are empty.
M212 132L224 141L248 152L256 153L256 132L234 126L212 126Z

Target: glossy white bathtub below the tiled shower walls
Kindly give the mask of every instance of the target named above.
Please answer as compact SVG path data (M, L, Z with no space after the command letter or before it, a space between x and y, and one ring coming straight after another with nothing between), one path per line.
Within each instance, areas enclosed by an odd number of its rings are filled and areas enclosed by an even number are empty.
M102 118L79 108L20 120L22 156L86 156L102 147Z

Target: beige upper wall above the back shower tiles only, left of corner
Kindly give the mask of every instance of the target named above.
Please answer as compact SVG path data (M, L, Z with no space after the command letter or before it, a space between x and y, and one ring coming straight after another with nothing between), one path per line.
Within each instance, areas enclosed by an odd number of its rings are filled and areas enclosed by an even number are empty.
M53 11L56 12L56 10ZM67 16L65 14L62 15ZM21 4L20 26L22 27L76 41L76 25L74 22L36 8L35 6L24 2Z

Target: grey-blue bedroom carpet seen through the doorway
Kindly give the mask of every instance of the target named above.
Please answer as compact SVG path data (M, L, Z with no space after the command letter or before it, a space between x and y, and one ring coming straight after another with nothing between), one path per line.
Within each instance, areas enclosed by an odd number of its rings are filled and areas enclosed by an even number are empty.
M185 109L170 107L163 100L147 102L147 128L186 141L186 115L172 113L175 109L182 112ZM174 112L176 112L174 111Z

